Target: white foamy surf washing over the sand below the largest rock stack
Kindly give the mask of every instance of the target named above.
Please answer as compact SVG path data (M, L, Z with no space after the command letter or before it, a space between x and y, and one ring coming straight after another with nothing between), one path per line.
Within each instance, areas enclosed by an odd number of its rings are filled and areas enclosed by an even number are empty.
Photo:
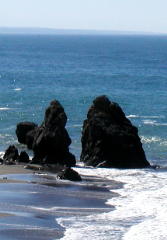
M60 218L58 222L66 228L63 240L166 239L166 172L91 168L78 168L77 171L124 182L125 185L114 190L120 196L107 201L115 206L114 211Z

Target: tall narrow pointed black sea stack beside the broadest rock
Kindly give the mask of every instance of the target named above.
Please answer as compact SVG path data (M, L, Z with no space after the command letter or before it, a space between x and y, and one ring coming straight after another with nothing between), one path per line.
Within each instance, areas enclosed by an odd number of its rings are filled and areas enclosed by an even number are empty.
M59 101L54 100L46 109L44 122L36 129L32 149L33 161L75 166L75 156L69 152L71 139L65 128L67 116Z

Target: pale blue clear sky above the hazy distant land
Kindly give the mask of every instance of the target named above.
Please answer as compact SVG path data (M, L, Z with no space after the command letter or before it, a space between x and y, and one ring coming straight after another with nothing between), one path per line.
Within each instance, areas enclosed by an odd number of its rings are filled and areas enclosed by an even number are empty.
M0 0L0 27L167 33L167 0Z

